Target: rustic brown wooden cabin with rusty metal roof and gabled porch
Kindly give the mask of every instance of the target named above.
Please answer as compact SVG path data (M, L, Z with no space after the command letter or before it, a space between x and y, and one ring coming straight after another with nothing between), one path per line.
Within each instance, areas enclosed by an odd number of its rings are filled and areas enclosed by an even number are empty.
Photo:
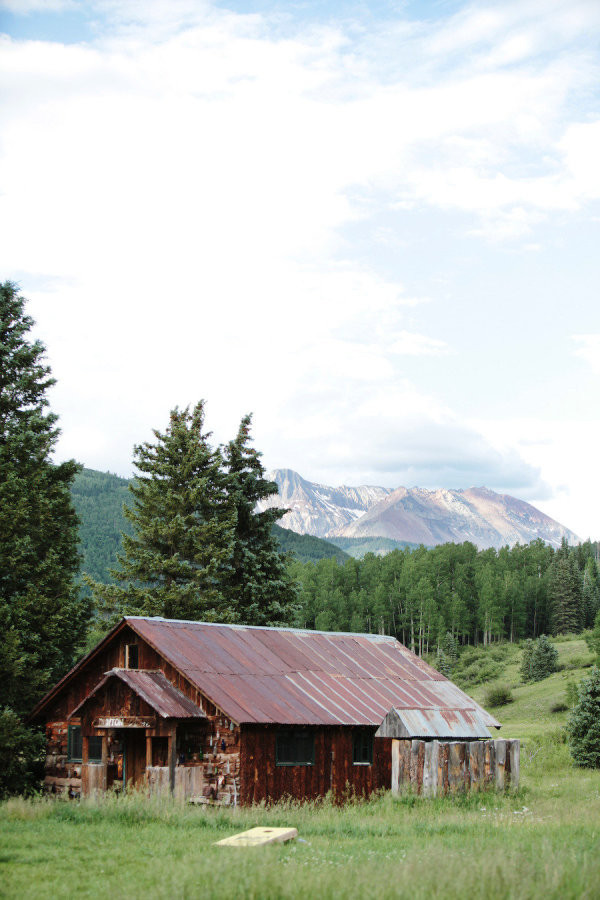
M477 741L500 727L391 637L137 616L30 719L46 726L51 792L230 804L366 796L392 784L393 741Z

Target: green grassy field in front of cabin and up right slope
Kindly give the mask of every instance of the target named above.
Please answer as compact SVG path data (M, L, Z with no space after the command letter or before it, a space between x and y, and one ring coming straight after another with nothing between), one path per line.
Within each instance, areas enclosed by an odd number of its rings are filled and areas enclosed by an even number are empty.
M582 641L563 665L588 662ZM579 658L579 659L578 659ZM518 793L422 800L389 794L343 808L206 809L129 796L102 803L12 800L0 806L0 896L23 898L596 898L600 771L572 767L562 726L564 670L520 685L518 654L496 710L524 737ZM473 693L481 699L485 689ZM254 825L299 840L240 849L214 842Z

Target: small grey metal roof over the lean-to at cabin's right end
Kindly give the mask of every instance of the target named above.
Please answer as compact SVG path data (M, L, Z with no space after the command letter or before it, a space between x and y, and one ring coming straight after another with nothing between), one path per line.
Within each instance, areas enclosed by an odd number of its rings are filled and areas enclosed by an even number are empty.
M392 709L376 737L471 740L492 735L475 709Z

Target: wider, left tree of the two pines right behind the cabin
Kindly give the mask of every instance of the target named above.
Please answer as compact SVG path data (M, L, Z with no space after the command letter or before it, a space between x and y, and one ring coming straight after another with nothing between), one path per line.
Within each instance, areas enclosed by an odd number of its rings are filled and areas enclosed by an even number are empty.
M156 442L134 448L139 474L123 507L133 535L123 535L116 585L88 579L106 623L124 614L236 621L226 580L236 513L222 457L204 431L204 401L174 409Z

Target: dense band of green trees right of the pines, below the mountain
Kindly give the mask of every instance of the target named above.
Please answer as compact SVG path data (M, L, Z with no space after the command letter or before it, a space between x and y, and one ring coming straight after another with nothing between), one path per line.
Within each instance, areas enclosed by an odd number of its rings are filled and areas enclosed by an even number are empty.
M598 545L537 540L501 550L440 544L343 565L293 562L298 625L393 635L420 655L459 644L579 632L600 608Z

